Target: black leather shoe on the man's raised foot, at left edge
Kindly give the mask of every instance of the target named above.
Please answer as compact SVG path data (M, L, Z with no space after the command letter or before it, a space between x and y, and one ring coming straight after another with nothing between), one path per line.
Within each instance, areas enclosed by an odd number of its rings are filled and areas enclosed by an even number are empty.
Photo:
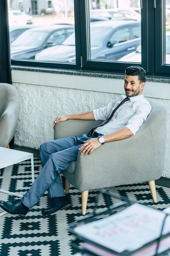
M21 199L15 199L14 201L0 201L0 207L11 214L18 214L20 217L25 217L29 208L26 207Z

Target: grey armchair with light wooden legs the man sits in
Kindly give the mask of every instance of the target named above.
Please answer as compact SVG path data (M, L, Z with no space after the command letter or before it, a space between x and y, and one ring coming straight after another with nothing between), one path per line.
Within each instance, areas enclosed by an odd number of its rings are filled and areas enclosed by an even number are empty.
M82 215L85 215L88 190L111 186L149 182L153 201L156 202L155 180L161 177L164 166L167 111L166 107L148 99L152 111L135 136L105 143L84 157L78 154L62 171L66 178L65 193L70 183L82 191ZM54 128L54 139L81 136L103 121L68 120Z

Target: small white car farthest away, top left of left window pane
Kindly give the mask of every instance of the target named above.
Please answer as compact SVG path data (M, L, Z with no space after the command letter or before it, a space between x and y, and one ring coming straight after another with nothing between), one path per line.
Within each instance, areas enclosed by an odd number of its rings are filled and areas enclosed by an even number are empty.
M8 12L9 26L25 26L33 23L33 17L21 11Z

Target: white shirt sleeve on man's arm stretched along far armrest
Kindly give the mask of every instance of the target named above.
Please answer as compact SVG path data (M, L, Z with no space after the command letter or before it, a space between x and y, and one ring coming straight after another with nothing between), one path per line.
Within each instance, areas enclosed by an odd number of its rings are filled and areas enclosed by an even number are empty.
M108 117L111 115L111 112L113 110L114 105L119 99L115 99L112 102L110 102L107 106L103 108L94 109L94 118L95 120L103 120L105 121L108 119Z

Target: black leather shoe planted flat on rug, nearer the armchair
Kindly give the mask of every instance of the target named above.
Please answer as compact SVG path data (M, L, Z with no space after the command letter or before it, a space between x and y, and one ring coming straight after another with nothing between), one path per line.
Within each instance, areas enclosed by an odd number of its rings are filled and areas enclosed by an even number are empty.
M66 196L53 198L51 206L42 210L42 215L51 214L57 212L58 210L66 209L71 206L71 202Z

